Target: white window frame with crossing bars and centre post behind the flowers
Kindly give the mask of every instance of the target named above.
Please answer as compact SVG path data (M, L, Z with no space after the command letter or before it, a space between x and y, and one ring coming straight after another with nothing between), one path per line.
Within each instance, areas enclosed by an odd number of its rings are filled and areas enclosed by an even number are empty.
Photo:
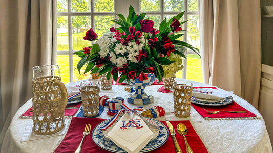
M160 22L164 19L164 15L177 15L180 12L165 12L164 11L164 0L160 0L160 11L155 12L141 12L140 11L140 3L141 0L114 0L114 12L117 14L123 14L124 16L128 15L129 6L132 5L135 9L135 12L137 14L139 13L146 13L146 15L160 15ZM199 3L199 2L198 2ZM184 10L188 9L188 0L184 0ZM69 81L73 82L73 54L77 52L78 50L73 50L72 47L72 16L91 16L91 28L95 28L95 22L94 18L95 16L106 16L111 15L113 16L113 12L95 12L94 11L94 1L91 0L90 8L91 12L72 12L71 11L71 0L67 0L68 5L68 12L58 12L57 16L67 16L68 18L68 48L69 50L62 50L62 51L56 51L56 54L53 55L68 55L69 56ZM199 15L198 11L185 11L184 13L184 20L187 20L188 15ZM115 18L117 18L115 16ZM187 23L184 23L184 29L187 29ZM184 32L183 35L183 41L187 42L187 32ZM188 52L185 53L185 56L187 54L196 54L192 50L188 50ZM56 63L56 58L53 63ZM186 79L186 71L187 71L187 59L183 59L183 70L182 70L182 78Z

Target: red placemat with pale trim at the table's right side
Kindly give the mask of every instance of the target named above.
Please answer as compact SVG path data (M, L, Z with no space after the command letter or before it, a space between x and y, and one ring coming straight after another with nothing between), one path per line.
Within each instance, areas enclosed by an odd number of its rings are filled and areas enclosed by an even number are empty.
M193 104L192 106L195 108L195 110L205 119L209 118L223 118L223 119L239 119L239 118L250 118L250 119L256 119L257 115L249 112L245 108L241 107L239 104L235 103L235 101L232 101L232 103L222 106L206 106L206 105L198 105ZM208 111L220 111L220 110L226 110L226 111L246 111L246 113L230 113L230 112L219 112L217 114L211 114L205 111L203 108L205 108Z

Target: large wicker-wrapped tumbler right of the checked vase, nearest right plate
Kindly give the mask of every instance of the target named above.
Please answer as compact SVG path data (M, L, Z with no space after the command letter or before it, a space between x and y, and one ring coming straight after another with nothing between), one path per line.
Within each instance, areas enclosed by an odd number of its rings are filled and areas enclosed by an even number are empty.
M191 82L181 80L173 82L175 116L190 116L192 91L193 83Z

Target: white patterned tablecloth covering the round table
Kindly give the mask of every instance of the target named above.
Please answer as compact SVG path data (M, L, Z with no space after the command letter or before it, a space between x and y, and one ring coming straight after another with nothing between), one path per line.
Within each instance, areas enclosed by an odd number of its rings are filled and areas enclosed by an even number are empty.
M193 81L192 81L193 82ZM71 83L73 85L79 82ZM202 83L193 82L194 86L208 86ZM162 85L151 85L145 88L146 92L154 96L154 103L143 105L146 108L160 105L163 108L173 108L173 93L157 92L157 89ZM123 97L129 94L124 91L127 86L118 86L118 92L108 93L101 92L100 96L108 95L110 98ZM204 120L201 122L191 122L196 133L200 136L203 143L206 145L209 152L272 152L272 146L266 130L266 126L261 114L244 99L232 95L234 101L246 108L248 111L256 114L260 119L245 119L245 120ZM137 105L125 104L129 108L139 107ZM65 135L54 136L45 139L32 140L21 142L22 135L26 125L32 122L32 119L19 118L27 109L32 106L31 99L24 104L14 115L9 129L4 138L1 153L6 152L54 152L58 144ZM110 119L112 116L107 115L107 108L98 118ZM198 114L199 115L199 114ZM165 120L165 117L157 118ZM66 117L68 124L71 117ZM66 129L67 130L67 129Z

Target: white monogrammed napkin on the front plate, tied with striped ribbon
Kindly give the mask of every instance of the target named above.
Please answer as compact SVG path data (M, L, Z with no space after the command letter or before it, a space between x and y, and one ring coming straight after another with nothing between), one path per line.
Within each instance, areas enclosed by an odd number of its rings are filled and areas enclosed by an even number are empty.
M136 113L125 113L106 135L106 138L129 153L139 152L155 137Z

